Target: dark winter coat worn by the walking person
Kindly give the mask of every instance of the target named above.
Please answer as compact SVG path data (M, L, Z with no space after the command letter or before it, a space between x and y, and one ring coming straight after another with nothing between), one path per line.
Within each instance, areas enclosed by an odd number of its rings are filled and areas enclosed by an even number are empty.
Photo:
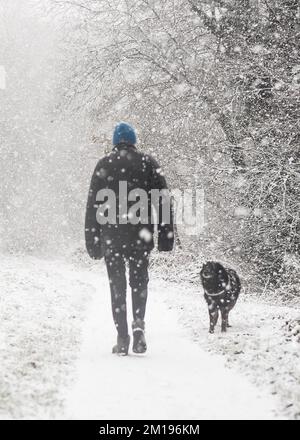
M127 182L128 193L142 189L148 194L147 224L120 224L119 216L119 182ZM97 194L102 189L112 190L116 194L116 224L100 225L97 221L97 210L100 202ZM148 154L138 151L134 146L121 144L112 153L101 159L92 177L86 210L85 238L87 251L91 258L99 260L111 249L118 251L144 249L150 252L154 248L153 235L155 226L152 224L153 203L150 192L153 189L167 190L167 183L158 163ZM137 199L138 201L139 199ZM163 223L162 209L167 202L170 209L169 223ZM128 202L128 208L134 203ZM174 246L173 209L170 196L160 198L158 223L158 249L169 252Z

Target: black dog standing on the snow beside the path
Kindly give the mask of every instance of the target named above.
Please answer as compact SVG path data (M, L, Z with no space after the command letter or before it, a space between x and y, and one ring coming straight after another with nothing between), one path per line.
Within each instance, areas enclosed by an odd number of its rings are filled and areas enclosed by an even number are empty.
M209 310L209 332L215 331L219 310L222 315L222 332L226 332L230 327L229 313L236 305L241 292L240 278L234 270L225 269L220 263L214 262L204 264L200 275Z

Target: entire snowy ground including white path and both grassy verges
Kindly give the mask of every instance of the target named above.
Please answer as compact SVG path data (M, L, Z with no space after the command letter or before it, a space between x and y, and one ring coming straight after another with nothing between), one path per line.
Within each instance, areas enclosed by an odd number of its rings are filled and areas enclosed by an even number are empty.
M297 311L241 301L234 328L210 336L201 293L155 279L149 353L120 359L110 354L115 332L100 266L2 258L0 418L269 419L300 412L300 346L284 329Z

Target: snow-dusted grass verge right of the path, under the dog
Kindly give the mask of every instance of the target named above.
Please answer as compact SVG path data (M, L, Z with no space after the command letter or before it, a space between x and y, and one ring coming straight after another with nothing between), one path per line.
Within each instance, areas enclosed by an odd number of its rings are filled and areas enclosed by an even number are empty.
M276 398L277 414L300 420L300 343L289 334L286 322L299 319L300 310L263 303L255 296L241 298L231 313L226 335L220 328L208 334L208 312L199 289L183 284L162 286L165 304L179 315L190 338L206 352L223 356L226 366L242 373L258 389ZM171 298L171 300L170 300Z

